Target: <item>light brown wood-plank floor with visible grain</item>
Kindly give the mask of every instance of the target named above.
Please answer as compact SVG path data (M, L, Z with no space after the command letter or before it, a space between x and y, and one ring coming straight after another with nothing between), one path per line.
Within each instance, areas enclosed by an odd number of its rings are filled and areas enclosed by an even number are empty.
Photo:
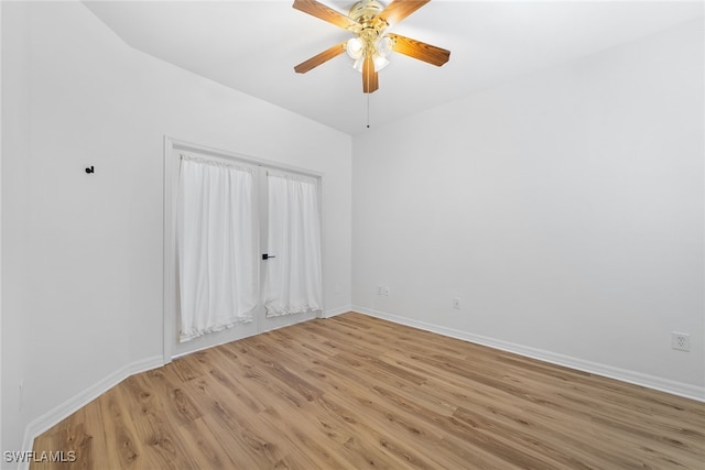
M702 470L705 404L350 313L131 376L34 450L99 470Z

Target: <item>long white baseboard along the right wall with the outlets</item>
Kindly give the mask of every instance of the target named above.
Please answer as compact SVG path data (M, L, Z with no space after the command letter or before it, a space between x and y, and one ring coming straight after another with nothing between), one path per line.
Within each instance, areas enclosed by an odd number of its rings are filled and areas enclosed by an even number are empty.
M351 309L354 311L359 311L360 314L369 315L376 318L381 318L383 320L389 320L395 324L419 328L425 331L435 332L435 334L447 336L451 338L462 339L464 341L474 342L476 345L488 346L490 348L499 349L502 351L513 352L528 358L538 359L544 362L550 362L552 364L563 365L563 367L575 369L578 371L619 380L621 382L628 382L634 385L646 386L647 389L658 390L660 392L683 396L685 398L696 400L698 402L705 402L705 387L702 387L702 386L692 385L683 382L675 382L669 379L662 379L659 376L649 375L649 374L644 374L636 371L630 371L627 369L615 368L611 365L600 364L597 362L585 361L583 359L558 354L558 353L545 351L542 349L530 348L527 346L502 341L499 339L489 338L480 335L473 335L467 331L446 328L438 325L432 325L425 321L413 320L410 318L404 318L398 315L387 314L384 311L365 308L357 305L354 305Z

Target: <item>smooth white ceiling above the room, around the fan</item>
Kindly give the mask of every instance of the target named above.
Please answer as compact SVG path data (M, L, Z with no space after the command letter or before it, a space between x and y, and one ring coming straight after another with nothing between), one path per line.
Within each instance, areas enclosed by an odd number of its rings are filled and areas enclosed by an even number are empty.
M321 0L340 12L355 0ZM349 134L367 95L340 55L293 66L349 37L292 1L85 1L132 47ZM370 95L371 125L702 17L702 1L435 0L392 31L449 50L443 67L391 54Z

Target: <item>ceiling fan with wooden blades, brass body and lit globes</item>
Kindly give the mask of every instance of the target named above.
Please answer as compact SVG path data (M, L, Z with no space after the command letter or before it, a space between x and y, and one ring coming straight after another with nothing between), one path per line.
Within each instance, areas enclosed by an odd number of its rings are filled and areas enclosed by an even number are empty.
M392 51L436 66L445 64L451 58L451 51L387 32L430 1L393 0L384 7L377 0L361 0L350 8L346 17L315 0L294 0L296 10L354 34L354 37L302 62L294 70L305 74L347 52L355 59L355 68L362 73L362 92L371 94L379 89L378 72L389 64L387 55Z

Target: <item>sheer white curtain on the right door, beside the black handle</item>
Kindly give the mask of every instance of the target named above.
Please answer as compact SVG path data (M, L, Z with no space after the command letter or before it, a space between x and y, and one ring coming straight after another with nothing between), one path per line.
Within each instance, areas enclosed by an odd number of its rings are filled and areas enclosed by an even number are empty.
M268 175L268 317L322 308L321 221L315 179Z

